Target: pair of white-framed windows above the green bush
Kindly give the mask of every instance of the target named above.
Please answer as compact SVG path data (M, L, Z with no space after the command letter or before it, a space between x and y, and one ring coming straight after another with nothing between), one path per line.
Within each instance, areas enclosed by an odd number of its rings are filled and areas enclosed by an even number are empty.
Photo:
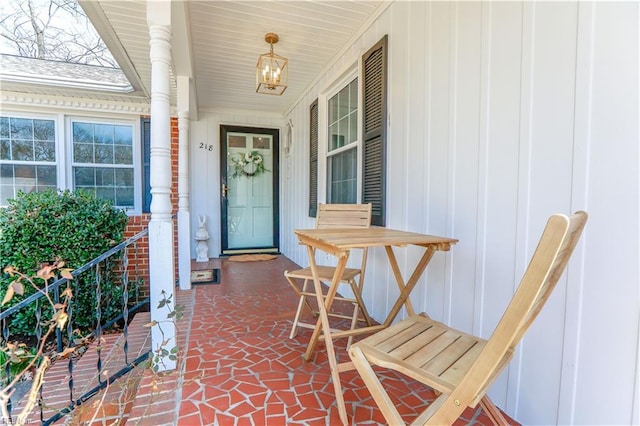
M67 131L58 129L66 128ZM66 139L61 140L66 134ZM19 190L82 189L140 211L137 121L0 117L0 206Z

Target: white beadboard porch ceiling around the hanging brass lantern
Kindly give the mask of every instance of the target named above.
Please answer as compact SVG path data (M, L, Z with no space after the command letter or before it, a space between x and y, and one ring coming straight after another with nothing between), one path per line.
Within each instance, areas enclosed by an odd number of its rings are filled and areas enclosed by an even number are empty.
M173 75L190 75L199 108L283 115L331 60L369 25L387 0L187 1L173 5ZM81 2L134 87L151 92L147 2ZM177 13L176 13L177 11ZM182 17L182 19L181 19ZM289 59L282 96L255 93L258 55L274 32L275 53ZM191 40L190 56L180 40ZM180 44L180 50L175 44ZM189 67L185 62L191 63ZM173 89L175 91L175 81ZM175 93L173 94L175 101Z

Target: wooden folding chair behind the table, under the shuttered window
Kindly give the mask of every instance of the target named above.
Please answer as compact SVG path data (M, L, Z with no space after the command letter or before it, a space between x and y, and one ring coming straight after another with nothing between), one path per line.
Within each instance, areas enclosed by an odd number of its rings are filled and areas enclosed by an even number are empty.
M369 228L371 225L371 204L319 204L318 214L316 217L316 229L328 228ZM353 303L353 314L351 316L343 315L338 312L328 312L328 315L336 318L351 319L351 329L353 330L358 321L364 321L367 325L372 325L371 318L367 313L367 309L361 299L362 285L364 279L364 271L367 265L367 249L362 250L362 261L360 268L345 268L341 283L349 284L354 298L346 298L342 296L334 297L334 300ZM330 283L333 279L335 268L332 266L318 266L320 281ZM294 291L300 296L296 316L293 319L291 328L291 339L298 332L298 327L314 329L316 324L309 324L300 321L304 306L313 313L318 315L317 310L313 309L307 298L316 300L316 294L313 290L313 274L311 268L298 269L295 271L285 271L284 276L291 284ZM302 283L300 283L300 280ZM359 314L362 314L360 318ZM348 344L351 344L352 337L349 337Z

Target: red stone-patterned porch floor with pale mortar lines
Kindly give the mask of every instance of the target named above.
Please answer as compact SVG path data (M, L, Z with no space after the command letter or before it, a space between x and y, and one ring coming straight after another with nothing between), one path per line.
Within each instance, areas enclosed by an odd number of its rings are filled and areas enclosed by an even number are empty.
M194 306L179 326L188 345L181 363L184 374L177 381L181 387L172 392L181 399L174 421L181 426L339 425L323 346L305 362L311 331L302 329L289 339L297 298L283 271L297 266L278 256L262 262L212 260L193 267L219 267L221 283L180 292L194 293L178 298L193 300ZM336 342L339 361L348 360L345 349L346 340ZM357 373L341 373L341 379L350 422L385 424ZM434 399L431 389L395 373L385 373L382 380L407 421ZM456 424L491 422L478 407L468 409Z

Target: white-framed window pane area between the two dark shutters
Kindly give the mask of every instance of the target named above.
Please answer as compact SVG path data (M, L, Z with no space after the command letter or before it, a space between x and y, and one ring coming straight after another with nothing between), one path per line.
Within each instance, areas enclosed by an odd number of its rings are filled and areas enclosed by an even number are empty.
M358 200L358 79L328 102L327 202Z

